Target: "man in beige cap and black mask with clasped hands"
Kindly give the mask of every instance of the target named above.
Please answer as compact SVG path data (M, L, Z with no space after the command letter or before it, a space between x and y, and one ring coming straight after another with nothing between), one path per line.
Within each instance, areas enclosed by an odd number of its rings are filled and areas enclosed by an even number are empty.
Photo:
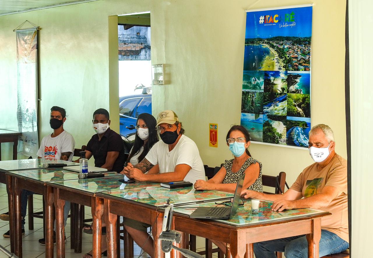
M162 141L154 144L144 160L137 165L128 163L122 173L140 182L185 180L194 184L198 179L205 180L204 166L197 145L184 135L184 129L175 112L165 110L159 113L157 126ZM153 239L146 232L146 227L150 225L133 220L124 220L123 223L135 242L154 257Z

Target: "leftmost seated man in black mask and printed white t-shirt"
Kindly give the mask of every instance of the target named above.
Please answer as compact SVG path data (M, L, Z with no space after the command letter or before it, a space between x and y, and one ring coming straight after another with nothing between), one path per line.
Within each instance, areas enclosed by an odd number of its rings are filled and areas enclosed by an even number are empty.
M63 129L63 123L66 121L66 110L62 107L53 106L50 109L50 127L53 133L44 136L41 140L39 151L37 152L38 158L46 160L67 160L72 161L74 155L75 140L73 136ZM26 208L28 195L34 194L31 191L23 190L21 193L21 213L22 213L22 235L25 233L24 225L26 216ZM65 224L70 211L70 202L65 202L64 214ZM6 214L1 214L1 217L6 217ZM9 215L8 215L9 217ZM9 231L4 233L4 237L9 237ZM55 237L54 237L55 241ZM45 245L45 239L39 239L41 245Z

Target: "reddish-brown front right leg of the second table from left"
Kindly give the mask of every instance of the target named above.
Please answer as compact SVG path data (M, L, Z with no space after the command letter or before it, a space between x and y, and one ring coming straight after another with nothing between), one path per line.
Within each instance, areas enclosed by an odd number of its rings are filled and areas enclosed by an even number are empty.
M102 214L104 213L104 201L101 198L92 197L91 201L92 229L93 229L93 258L101 258L101 227Z

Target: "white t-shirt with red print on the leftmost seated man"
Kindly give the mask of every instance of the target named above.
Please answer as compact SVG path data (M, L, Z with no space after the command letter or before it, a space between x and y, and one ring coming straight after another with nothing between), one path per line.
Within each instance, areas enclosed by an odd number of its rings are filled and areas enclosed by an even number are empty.
M41 140L40 148L37 153L38 157L45 158L47 160L61 159L61 153L71 152L68 161L72 161L74 155L75 140L72 135L66 131L63 131L56 137L51 137L51 134L46 135Z

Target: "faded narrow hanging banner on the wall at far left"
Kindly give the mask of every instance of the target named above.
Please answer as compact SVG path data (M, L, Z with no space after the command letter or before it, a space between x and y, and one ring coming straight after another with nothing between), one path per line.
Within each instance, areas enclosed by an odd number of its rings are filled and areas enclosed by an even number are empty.
M37 121L38 54L37 28L16 31L17 120L22 136L18 153L36 157L39 149Z

